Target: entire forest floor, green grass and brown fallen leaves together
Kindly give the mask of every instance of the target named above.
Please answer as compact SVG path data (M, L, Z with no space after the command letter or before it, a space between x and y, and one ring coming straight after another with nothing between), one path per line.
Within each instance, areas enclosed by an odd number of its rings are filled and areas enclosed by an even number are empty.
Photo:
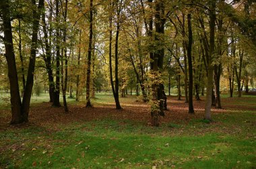
M32 99L30 122L15 126L0 102L0 168L256 167L255 95L223 95L211 123L204 97L192 115L184 98L168 97L160 127L150 126L150 105L135 96L121 98L121 110L112 95L96 95L92 108L68 99L67 114L47 99Z

